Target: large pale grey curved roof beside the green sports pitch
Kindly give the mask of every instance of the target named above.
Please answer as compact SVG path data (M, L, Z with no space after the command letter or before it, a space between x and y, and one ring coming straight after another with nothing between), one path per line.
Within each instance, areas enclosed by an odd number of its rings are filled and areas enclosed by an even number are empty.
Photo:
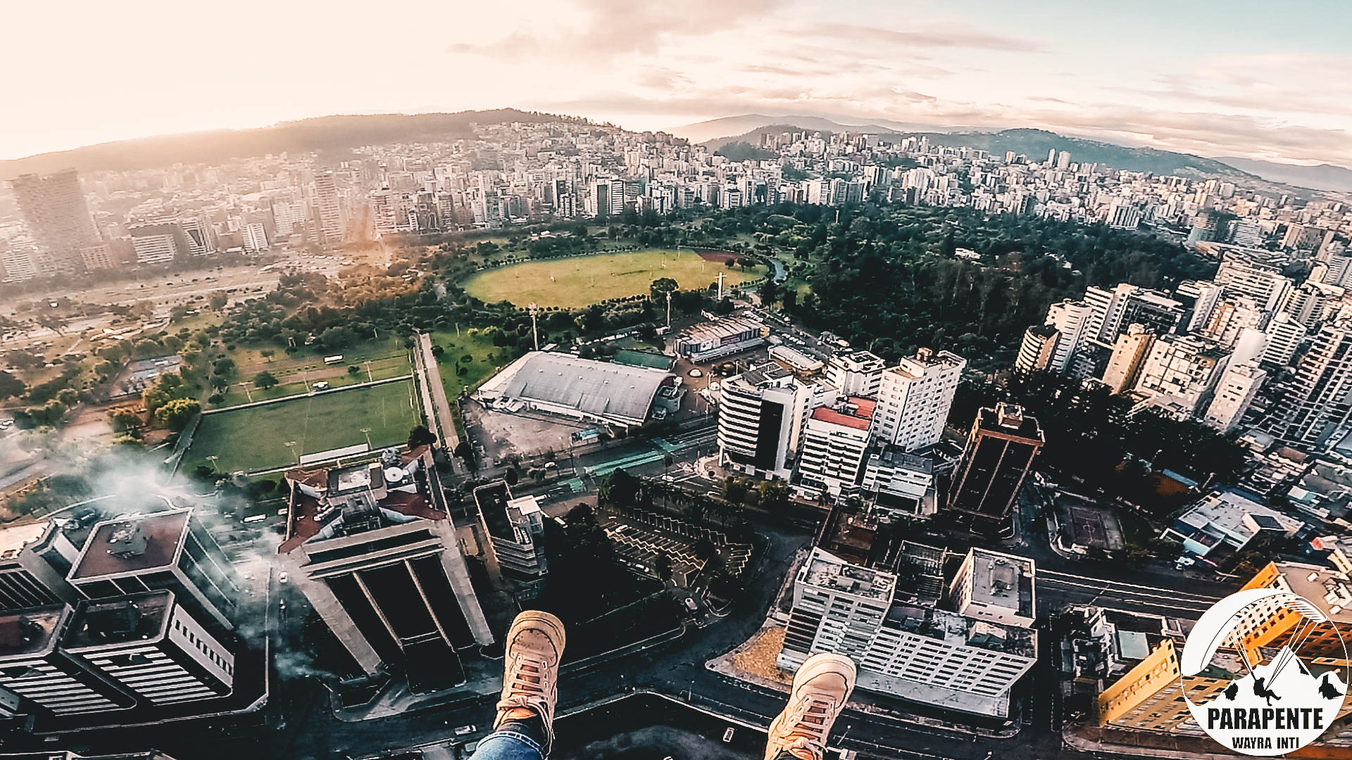
M642 422L669 372L580 358L564 353L527 354L507 380L503 399L523 399L577 410L589 417Z

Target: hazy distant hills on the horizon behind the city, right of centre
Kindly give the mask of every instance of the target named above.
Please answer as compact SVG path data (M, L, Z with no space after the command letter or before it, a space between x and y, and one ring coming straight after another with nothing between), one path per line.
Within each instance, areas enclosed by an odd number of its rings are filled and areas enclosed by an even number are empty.
M1192 156L1190 153L1172 153L1168 150L1157 150L1155 147L1128 147L1094 139L1059 135L1046 130L1017 128L1000 131L941 133L894 128L877 124L842 124L840 122L831 122L830 119L821 119L817 116L779 116L773 122L765 122L767 119L771 118L750 114L746 116L730 116L727 119L714 119L711 122L687 124L685 127L679 127L672 131L673 134L687 137L687 134L707 134L708 131L719 127L756 124L745 133L723 133L700 141L711 149L719 149L731 142L760 145L761 134L775 134L794 128L830 133L863 131L869 134L898 134L914 135L917 138L929 137L930 142L956 147L976 147L988 150L995 156L1003 156L1006 151L1013 150L1015 154L1028 156L1030 161L1042 161L1046 158L1046 154L1055 149L1057 151L1068 150L1071 153L1071 160L1076 162L1088 161L1094 164L1105 164L1114 169L1126 169L1129 172L1153 172L1156 174L1192 172L1199 174L1257 179L1256 174L1251 174L1241 168L1232 166L1230 164L1225 164L1218 160ZM896 127L904 127L904 124L896 124ZM687 134L683 134L681 130L687 130ZM691 137L691 139L695 138Z

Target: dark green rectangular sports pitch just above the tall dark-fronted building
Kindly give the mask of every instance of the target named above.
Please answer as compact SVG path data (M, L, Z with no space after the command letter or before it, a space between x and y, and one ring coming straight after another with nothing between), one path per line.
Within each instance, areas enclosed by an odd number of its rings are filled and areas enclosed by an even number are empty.
M318 396L303 396L201 418L184 469L211 465L216 472L257 472L287 467L296 456L366 442L372 446L404 441L418 425L411 406L412 381L387 383ZM287 446L295 441L295 453ZM215 456L215 461L207 457Z

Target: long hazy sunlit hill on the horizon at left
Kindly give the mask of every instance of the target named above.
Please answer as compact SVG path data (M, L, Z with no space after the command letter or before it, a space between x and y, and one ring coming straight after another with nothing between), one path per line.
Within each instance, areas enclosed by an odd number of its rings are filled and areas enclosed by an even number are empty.
M81 173L137 170L172 164L218 164L269 153L346 151L361 145L419 139L458 138L470 134L473 123L583 120L502 108L457 114L379 114L370 116L320 116L281 122L254 130L216 130L147 137L89 145L74 150L39 153L27 158L0 161L0 180L27 172L55 172L74 168Z

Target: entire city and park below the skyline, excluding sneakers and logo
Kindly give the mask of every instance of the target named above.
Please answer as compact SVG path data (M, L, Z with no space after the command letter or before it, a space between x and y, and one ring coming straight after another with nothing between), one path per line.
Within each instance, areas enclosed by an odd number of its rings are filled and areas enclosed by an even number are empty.
M823 655L813 757L1233 756L1182 694L1280 699L1287 648L1343 696L1348 193L1041 130L314 122L4 162L0 752L470 757L530 611L554 757L760 756ZM1191 667L1241 590L1318 625Z

